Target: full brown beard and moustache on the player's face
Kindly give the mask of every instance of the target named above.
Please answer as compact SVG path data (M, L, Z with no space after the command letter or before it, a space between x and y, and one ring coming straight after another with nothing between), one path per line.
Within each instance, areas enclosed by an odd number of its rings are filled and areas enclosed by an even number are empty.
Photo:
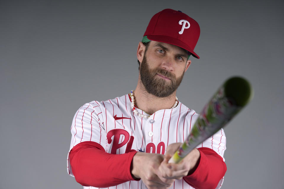
M170 81L162 78L157 78L156 74L166 76L170 79ZM184 71L183 74L177 78L169 71L161 68L150 70L146 56L143 57L143 60L141 62L141 82L144 85L146 91L156 97L168 97L173 94L178 89L178 86L180 86L180 83L183 80L183 75Z

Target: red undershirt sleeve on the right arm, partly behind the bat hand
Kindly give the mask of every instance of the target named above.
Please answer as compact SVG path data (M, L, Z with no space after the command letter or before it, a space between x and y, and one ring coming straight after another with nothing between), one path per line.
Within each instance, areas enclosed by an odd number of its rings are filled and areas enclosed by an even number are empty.
M214 189L225 175L227 167L222 157L210 148L198 148L200 162L196 170L186 177L185 182L193 188Z

